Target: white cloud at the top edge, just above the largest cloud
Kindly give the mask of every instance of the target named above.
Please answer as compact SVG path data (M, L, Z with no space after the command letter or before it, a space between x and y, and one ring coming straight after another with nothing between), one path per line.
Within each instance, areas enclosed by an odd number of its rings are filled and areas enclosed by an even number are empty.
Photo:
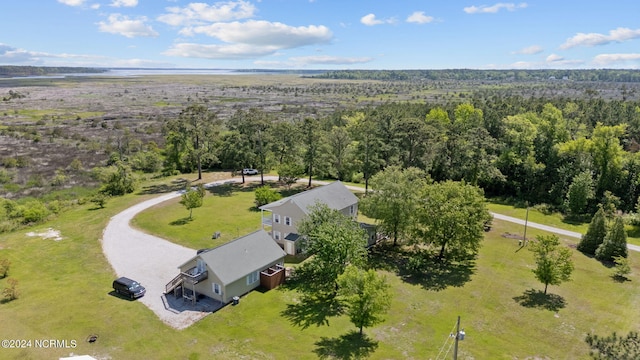
M213 5L191 3L186 7L168 7L167 14L157 20L172 26L201 25L204 22L231 21L248 19L254 16L256 8L244 1L218 2Z

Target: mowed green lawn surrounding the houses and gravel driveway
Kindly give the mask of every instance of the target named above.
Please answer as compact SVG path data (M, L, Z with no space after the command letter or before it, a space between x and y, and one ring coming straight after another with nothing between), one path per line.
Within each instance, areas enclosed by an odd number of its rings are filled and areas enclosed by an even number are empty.
M146 187L146 192L172 189L175 180ZM229 196L239 218L256 215L248 194L234 191ZM355 328L344 316L331 318L329 326L294 326L284 314L287 304L296 303L299 296L285 288L254 291L238 306L227 306L181 331L164 325L140 302L110 295L114 273L102 254L102 229L111 216L152 196L112 199L105 209L78 207L37 228L2 235L0 258L11 259L9 277L19 281L21 297L0 304L0 338L76 340L77 347L0 349L0 358L51 359L74 353L113 359L316 359L319 354L353 358L358 352L348 341ZM212 203L221 201L219 195L207 197ZM188 215L179 204L164 205L167 213L175 207L180 213L176 219ZM194 210L196 219L231 212L226 207L197 210L204 206ZM171 219L167 220L175 220ZM232 227L233 218L228 221ZM49 227L60 230L64 239L26 236ZM178 228L186 233L186 227ZM396 251L383 251L388 256L377 257L376 264L391 285L392 307L384 323L365 329L369 348L363 353L371 359L436 358L450 344L458 315L467 335L460 342L462 359L587 359L587 332L637 330L638 253L630 254L630 281L620 283L611 278L611 269L573 250L573 280L550 286L551 295L544 298L538 294L543 285L531 272L531 253L502 236L519 231L521 226L495 221L470 272L451 268L426 280L400 275L397 262L390 260ZM563 239L563 244L574 245L575 240ZM6 284L6 279L0 280L0 287ZM85 341L91 334L98 335L93 344Z

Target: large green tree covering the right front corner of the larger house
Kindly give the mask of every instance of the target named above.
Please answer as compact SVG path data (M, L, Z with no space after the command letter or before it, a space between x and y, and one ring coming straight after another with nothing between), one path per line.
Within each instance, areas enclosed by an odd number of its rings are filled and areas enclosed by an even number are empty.
M347 265L366 262L367 239L357 222L318 203L298 224L303 251L310 258L294 272L294 284L306 294L335 296L337 280Z

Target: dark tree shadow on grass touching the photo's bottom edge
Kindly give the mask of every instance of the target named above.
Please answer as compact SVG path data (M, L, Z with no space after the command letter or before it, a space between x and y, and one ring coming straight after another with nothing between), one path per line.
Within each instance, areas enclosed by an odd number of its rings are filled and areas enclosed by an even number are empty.
M323 337L313 350L320 359L364 359L378 348L378 342L366 334L352 331L337 338Z

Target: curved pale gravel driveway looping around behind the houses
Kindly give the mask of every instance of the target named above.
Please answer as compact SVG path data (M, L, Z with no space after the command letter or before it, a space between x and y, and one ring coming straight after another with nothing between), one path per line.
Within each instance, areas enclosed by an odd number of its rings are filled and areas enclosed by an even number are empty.
M248 181L257 181L259 177L247 177ZM265 180L277 180L274 176L265 176ZM234 178L206 184L206 187L229 182L240 182ZM300 180L306 182L307 180ZM318 181L317 184L326 184ZM363 191L360 187L347 186L354 191ZM117 276L136 279L147 289L145 296L138 301L149 307L166 324L182 329L206 316L208 313L199 311L182 311L179 313L166 308L163 294L165 284L178 274L178 266L196 255L194 249L171 243L162 238L146 234L130 226L130 221L139 212L160 204L164 201L179 197L181 192L174 192L136 204L111 218L102 235L104 254L116 272ZM524 220L491 213L495 219L524 225ZM572 238L580 238L582 234L558 229L551 226L529 221L527 226L556 233ZM630 250L640 251L640 246L628 245Z

